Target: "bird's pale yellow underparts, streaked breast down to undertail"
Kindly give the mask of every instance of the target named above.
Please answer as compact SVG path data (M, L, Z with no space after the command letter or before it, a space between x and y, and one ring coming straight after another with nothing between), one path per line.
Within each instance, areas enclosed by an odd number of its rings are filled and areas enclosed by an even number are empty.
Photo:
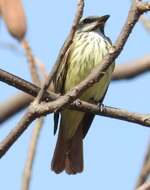
M94 67L101 64L103 57L108 53L111 45L103 40L98 34L92 33L93 41L83 44L74 44L74 51L71 52L68 59L68 71L65 82L65 92L72 89L74 86L83 81ZM78 40L77 40L78 41ZM80 42L82 43L82 42ZM82 47L80 47L82 46ZM108 47L106 47L108 46ZM87 89L80 97L81 100L89 101L91 98L99 101L103 98L107 87L111 80L111 75L114 69L114 64L109 67L104 77L92 87ZM78 111L63 110L62 125L64 126L64 134L66 138L71 138L81 120L84 113Z

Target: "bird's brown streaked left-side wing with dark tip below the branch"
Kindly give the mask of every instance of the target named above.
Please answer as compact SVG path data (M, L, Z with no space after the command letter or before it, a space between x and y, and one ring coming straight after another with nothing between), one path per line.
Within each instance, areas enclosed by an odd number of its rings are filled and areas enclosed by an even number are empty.
M58 71L55 75L55 78L53 80L54 92L56 92L56 93L64 94L64 84L65 84L66 74L67 74L67 70L68 70L67 60L69 57L70 50L71 50L71 45L68 48L65 56L63 57L60 65L58 67ZM58 122L59 122L59 112L56 112L56 113L54 113L54 135L57 132Z

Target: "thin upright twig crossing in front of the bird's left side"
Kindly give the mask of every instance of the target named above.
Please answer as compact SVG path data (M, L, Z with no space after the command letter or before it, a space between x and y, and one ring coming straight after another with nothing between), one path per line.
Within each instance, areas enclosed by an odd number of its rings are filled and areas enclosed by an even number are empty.
M41 102L42 97L44 95L44 92L48 89L50 83L52 82L64 55L66 54L69 46L71 45L71 43L73 41L73 37L74 37L75 32L76 32L76 27L77 27L77 25L78 25L78 23L82 17L82 14L83 14L83 9L84 9L84 0L78 0L77 11L76 11L76 15L75 15L69 36L68 36L67 40L65 41L64 46L60 50L60 53L59 53L58 58L56 60L56 63L54 65L54 67L52 68L51 72L49 73L47 80L45 80L44 84L42 85L42 88L41 88L41 90L38 94L38 97L37 97L38 103Z

